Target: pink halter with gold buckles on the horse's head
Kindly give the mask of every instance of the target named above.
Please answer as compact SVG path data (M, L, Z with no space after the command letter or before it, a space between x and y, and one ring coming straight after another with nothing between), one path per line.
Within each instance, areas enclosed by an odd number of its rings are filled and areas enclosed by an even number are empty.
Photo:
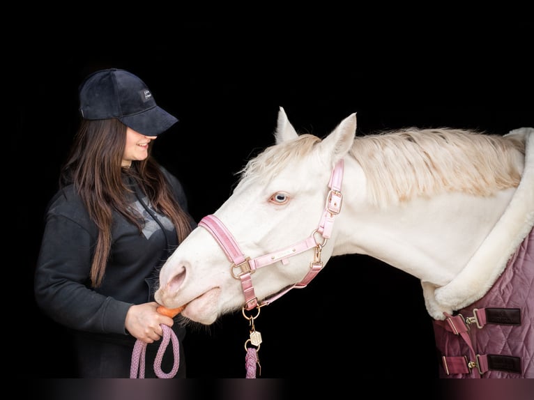
M317 229L312 232L311 236L277 252L250 259L250 257L243 255L236 240L218 217L215 217L215 215L206 215L206 217L200 220L199 226L204 227L211 233L213 238L217 240L217 243L219 243L220 247L224 250L224 254L227 255L227 258L231 262L232 275L236 279L241 279L241 286L243 287L243 293L245 294L245 309L250 310L254 307L268 305L270 302L282 297L282 295L293 288L304 288L323 268L323 263L321 263L321 249L326 245L326 241L330 238L334 224L334 217L340 213L342 206L343 197L341 194L341 185L343 180L343 167L344 161L340 160L335 164L332 171L330 181L328 182L330 191L328 192L326 205ZM316 240L316 234L322 236L322 243ZM310 263L310 270L307 272L306 276L297 284L287 287L281 292L264 300L261 302L261 305L259 305L252 284L252 273L258 268L268 266L277 261L282 261L285 265L289 263L289 257L312 248L315 248L314 261Z

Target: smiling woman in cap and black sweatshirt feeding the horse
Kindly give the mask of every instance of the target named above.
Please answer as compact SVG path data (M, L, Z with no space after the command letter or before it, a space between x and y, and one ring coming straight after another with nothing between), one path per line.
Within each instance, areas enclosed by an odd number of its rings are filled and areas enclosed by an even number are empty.
M79 88L82 121L47 208L35 276L38 306L73 331L79 378L128 378L135 342L146 378L179 316L156 311L158 272L194 228L181 183L151 157L152 141L178 120L139 77L100 70ZM176 377L185 377L183 346ZM162 371L174 363L169 344Z

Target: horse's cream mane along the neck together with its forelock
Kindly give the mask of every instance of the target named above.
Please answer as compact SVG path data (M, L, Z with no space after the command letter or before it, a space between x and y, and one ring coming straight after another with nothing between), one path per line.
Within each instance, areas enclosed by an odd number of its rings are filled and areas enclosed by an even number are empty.
M270 180L294 157L311 153L321 139L298 139L266 148L239 171L241 178ZM356 137L350 155L367 177L369 202L378 207L443 192L489 196L517 187L525 143L513 136L453 128L389 130Z

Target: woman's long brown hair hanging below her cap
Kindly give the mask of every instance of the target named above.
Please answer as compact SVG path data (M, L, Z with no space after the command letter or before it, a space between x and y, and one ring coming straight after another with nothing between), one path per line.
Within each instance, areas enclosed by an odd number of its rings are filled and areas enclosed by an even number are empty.
M142 218L131 208L126 196L130 190L123 174L132 176L155 210L173 222L178 243L191 230L190 218L172 195L158 162L150 155L150 148L145 160L132 161L128 170L121 167L126 129L126 125L115 118L82 120L59 178L60 187L75 185L89 217L98 228L90 272L93 287L100 286L105 274L112 243L112 211L116 210L142 231Z

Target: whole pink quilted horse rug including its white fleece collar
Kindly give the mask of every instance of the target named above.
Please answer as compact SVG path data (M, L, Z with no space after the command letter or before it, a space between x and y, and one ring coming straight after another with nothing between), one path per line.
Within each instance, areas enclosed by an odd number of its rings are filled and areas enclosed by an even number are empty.
M422 282L441 378L534 378L534 128L517 190L478 251L441 287Z

